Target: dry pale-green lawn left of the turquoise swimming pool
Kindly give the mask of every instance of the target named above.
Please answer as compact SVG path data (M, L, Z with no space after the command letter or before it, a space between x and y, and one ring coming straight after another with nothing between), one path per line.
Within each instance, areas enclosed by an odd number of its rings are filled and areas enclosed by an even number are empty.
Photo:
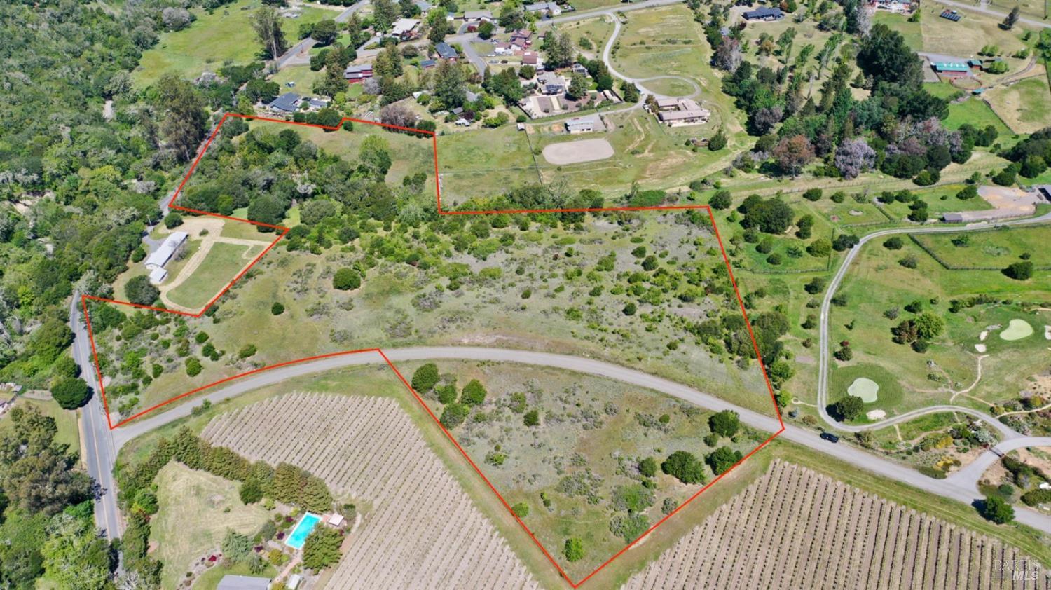
M156 483L161 509L149 536L164 563L165 588L176 588L194 561L219 549L226 529L251 536L270 516L259 505L245 506L236 483L180 463L161 469Z

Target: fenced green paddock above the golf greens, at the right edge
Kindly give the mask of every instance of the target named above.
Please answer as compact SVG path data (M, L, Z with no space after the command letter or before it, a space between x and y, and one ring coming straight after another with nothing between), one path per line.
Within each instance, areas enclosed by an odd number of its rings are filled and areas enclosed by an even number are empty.
M1037 267L1051 266L1051 250L1047 247L1051 229L1046 227L936 233L918 236L916 240L950 266L1003 268L1022 255L1030 255L1030 262Z

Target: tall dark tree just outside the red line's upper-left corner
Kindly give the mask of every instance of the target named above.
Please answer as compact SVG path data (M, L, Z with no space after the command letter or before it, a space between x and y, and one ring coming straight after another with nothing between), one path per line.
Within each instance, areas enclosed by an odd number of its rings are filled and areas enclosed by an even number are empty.
M190 160L207 130L208 113L197 88L173 74L166 74L154 85L158 105L164 110L161 134L181 162Z

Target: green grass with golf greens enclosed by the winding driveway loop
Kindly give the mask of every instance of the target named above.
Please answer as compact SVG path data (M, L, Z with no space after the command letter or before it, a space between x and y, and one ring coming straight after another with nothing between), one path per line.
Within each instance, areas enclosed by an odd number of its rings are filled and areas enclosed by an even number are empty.
M1002 237L992 232L988 239ZM906 257L915 259L916 268L899 263ZM1033 326L1051 323L1047 312L1024 311L1017 304L1008 303L978 305L955 313L948 312L947 307L950 299L973 293L1046 304L1051 287L1047 272L1037 272L1033 279L1021 282L1004 277L998 270L946 270L908 240L900 250L887 249L880 243L866 246L854 264L838 291L846 298L846 306L833 306L830 321L833 348L839 348L836 343L848 341L853 359L849 363L833 361L833 386L858 377L854 373L859 369L854 367L871 364L886 369L882 373L884 382L897 379L904 390L900 404L883 408L888 415L947 403L953 399L953 391L966 389L974 382L978 355L974 345L984 344L988 358L983 361L982 380L967 394L955 396L954 403L988 409L996 401L1013 398L1026 387L1029 375L1046 368L1038 353L1047 346L1042 334L1006 342L995 338L997 328L989 328L990 338L980 341L978 337L988 326L1006 326L1015 318L1024 318ZM904 307L914 301L921 302L923 310L932 311L946 322L945 332L924 353L891 342L890 328L913 317ZM885 312L892 308L898 309L898 317L889 319ZM847 374L840 377L841 371Z

